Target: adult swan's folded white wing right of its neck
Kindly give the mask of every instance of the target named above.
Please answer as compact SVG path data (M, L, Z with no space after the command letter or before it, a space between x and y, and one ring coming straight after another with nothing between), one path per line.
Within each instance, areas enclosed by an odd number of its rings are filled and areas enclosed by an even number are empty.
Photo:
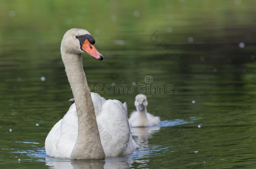
M118 100L107 100L97 116L99 134L106 156L130 154L137 144L131 137L127 111Z

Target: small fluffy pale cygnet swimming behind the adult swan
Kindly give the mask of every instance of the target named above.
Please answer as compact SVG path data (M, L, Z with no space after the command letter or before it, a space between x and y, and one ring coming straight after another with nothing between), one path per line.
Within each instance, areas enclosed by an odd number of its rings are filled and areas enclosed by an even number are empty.
M144 94L138 94L135 97L134 105L137 111L133 111L129 118L129 123L132 127L154 126L160 123L159 116L153 116L146 111L148 101Z

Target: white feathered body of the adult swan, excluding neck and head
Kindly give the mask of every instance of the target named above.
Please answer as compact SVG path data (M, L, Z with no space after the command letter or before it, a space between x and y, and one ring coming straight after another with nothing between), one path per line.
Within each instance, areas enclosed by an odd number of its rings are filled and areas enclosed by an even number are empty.
M125 104L118 100L105 100L91 92L99 129L99 136L106 156L131 154L137 148L132 139ZM48 134L45 148L49 156L70 158L78 135L76 104L73 103L63 119ZM54 144L52 144L54 143Z

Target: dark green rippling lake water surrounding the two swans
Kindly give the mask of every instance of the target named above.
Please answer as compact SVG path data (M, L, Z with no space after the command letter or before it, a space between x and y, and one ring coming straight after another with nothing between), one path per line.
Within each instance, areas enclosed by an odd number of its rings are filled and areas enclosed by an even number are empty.
M255 6L0 0L0 168L256 167ZM128 156L71 161L45 154L44 140L73 98L60 57L70 28L88 30L105 56L83 54L91 91L99 84L149 85L147 109L162 122L132 129L139 148ZM153 85L172 88L161 93ZM128 115L135 109L138 88L99 92L126 101Z

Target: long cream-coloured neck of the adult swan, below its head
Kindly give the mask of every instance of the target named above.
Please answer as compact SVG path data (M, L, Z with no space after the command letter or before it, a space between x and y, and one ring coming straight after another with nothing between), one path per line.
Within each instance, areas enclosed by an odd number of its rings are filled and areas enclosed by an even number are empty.
M71 159L104 159L91 93L86 81L81 54L61 50L68 81L76 101L78 136Z

